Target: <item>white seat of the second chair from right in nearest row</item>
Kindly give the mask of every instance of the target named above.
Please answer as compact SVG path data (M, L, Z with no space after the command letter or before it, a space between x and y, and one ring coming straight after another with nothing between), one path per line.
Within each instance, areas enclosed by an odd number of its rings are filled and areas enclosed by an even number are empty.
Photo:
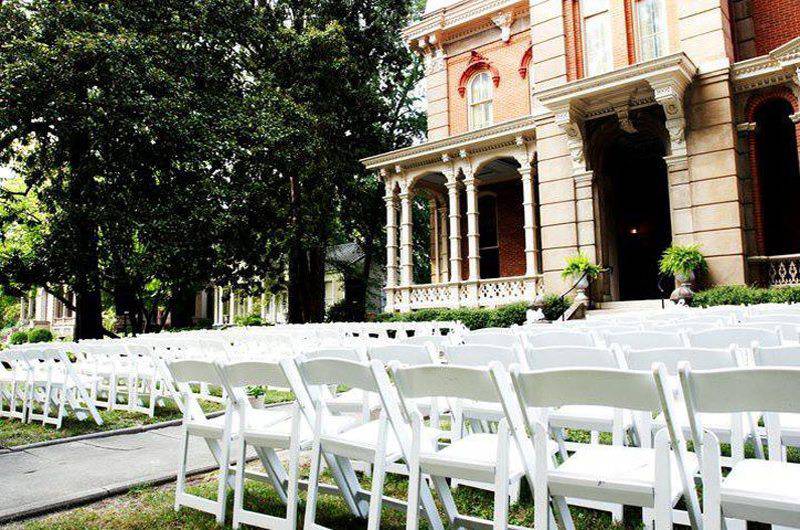
M652 508L655 495L655 450L621 445L586 445L550 472L552 494ZM683 493L680 472L671 459L673 504ZM698 469L688 455L689 473Z

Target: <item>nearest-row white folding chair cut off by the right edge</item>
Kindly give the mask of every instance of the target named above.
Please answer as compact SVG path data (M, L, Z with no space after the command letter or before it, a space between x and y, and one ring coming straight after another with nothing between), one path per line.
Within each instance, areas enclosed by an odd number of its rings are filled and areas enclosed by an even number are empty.
M800 464L745 459L723 477L720 442L700 413L800 412L800 369L758 367L679 370L695 436L701 440L703 528L720 530L723 518L800 527ZM779 426L778 426L779 428ZM680 429L674 428L679 433ZM672 434L672 432L671 432Z

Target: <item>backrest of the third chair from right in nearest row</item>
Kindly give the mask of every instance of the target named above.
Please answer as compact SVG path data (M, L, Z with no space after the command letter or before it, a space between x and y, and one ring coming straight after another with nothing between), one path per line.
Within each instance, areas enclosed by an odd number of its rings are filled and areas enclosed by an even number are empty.
M500 401L488 367L392 365L391 371L403 400L441 397Z

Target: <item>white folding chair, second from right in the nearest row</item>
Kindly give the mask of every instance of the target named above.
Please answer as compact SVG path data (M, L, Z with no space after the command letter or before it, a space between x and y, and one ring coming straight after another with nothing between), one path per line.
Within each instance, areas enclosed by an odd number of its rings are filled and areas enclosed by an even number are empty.
M562 464L554 466L549 451L547 411L571 405L590 405L635 411L648 417L661 409L648 372L603 368L566 368L532 372L512 369L511 378L520 407L534 433L536 470L535 527L547 528L550 496L620 505L640 506L646 527L672 529L673 507L686 495L693 526L699 520L693 476L697 462L686 452L680 433L670 451L666 430L656 435L655 448L623 445L584 445ZM539 419L531 418L531 409ZM541 470L550 469L548 473Z

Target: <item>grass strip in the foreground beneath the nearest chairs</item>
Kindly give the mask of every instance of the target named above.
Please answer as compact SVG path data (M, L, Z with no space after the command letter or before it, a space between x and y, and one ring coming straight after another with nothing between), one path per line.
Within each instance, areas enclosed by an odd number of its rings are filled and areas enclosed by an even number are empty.
M307 472L307 470L305 470ZM368 487L369 480L362 479ZM386 481L385 494L405 500L408 482L405 477L389 475ZM7 530L79 530L79 529L150 529L170 528L175 530L211 530L218 528L211 515L190 508L182 508L179 513L173 511L174 484L158 488L143 488L131 491L126 495L109 499L85 508L55 514L27 523L13 524ZM212 475L204 476L192 483L194 493L214 498L216 482ZM303 501L300 506L302 516L305 510L305 493L301 492ZM458 488L455 492L459 511L483 518L492 517L492 494L490 492ZM233 492L228 494L228 516L225 528L230 528ZM511 510L511 523L533 528L533 501L526 487L520 502ZM249 482L245 495L245 504L249 509L283 515L285 507L278 501L277 495L267 485ZM610 515L593 510L573 508L573 517L578 530L608 530L615 527ZM631 518L631 520L635 520ZM366 520L353 517L347 510L344 501L338 496L320 495L317 508L317 522L334 529L351 530L366 528ZM423 519L421 528L428 528ZM405 528L405 513L384 508L381 528L401 530Z

